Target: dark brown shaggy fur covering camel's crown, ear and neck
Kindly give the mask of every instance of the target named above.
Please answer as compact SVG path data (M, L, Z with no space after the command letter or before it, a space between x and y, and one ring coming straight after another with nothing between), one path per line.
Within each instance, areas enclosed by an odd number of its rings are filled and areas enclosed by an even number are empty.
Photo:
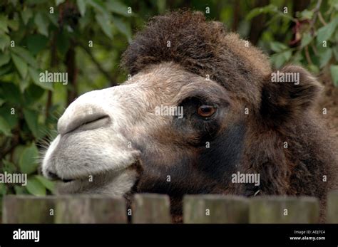
M247 131L240 170L261 174L260 194L317 196L323 221L327 190L337 187L338 172L337 146L329 141L320 115L312 109L319 84L297 66L282 71L299 73L299 85L271 83L267 57L245 42L235 33L226 33L221 23L205 21L201 13L178 11L153 18L124 53L123 65L132 75L163 62L174 62L202 77L210 75L227 90L233 105L250 110L244 120ZM168 140L168 135L159 136L163 142ZM141 184L149 184L149 178L144 177ZM250 196L255 191L229 184L221 193Z

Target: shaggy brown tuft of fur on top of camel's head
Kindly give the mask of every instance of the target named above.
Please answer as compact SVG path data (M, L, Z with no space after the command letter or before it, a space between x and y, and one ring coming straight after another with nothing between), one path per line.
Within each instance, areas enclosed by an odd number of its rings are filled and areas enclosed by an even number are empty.
M168 47L169 46L169 47ZM206 22L200 12L157 16L135 36L122 65L134 75L150 64L174 61L200 76L210 76L247 103L259 103L259 87L270 73L267 57L222 23Z

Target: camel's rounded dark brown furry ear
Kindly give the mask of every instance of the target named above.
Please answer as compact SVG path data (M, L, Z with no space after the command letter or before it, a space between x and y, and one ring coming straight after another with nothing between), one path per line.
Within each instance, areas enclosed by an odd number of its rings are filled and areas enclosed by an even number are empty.
M322 86L307 70L290 65L276 70L265 78L260 112L274 125L307 114L314 105Z

